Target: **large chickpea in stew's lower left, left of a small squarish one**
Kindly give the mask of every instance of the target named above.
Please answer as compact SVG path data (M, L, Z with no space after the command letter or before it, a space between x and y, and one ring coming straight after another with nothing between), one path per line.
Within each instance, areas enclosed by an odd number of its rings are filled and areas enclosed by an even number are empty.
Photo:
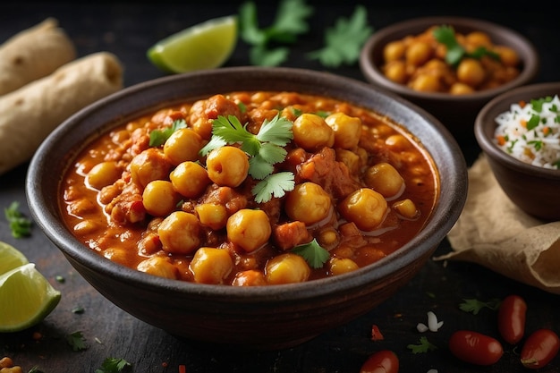
M191 254L200 244L200 225L196 216L174 211L157 228L163 250L172 254Z

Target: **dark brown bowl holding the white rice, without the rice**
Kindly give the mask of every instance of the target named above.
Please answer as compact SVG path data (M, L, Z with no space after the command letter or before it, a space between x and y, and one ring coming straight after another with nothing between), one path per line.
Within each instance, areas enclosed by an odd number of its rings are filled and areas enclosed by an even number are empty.
M513 89L484 106L474 124L479 146L505 194L527 214L545 220L560 219L560 170L529 165L498 148L494 142L495 118L521 100L555 95L560 95L560 81Z

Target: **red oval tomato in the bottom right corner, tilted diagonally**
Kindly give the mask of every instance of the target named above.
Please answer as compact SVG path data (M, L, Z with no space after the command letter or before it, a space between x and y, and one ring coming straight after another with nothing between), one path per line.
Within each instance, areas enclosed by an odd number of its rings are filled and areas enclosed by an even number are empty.
M539 369L553 360L560 349L558 335L550 329L533 332L522 348L522 364L525 368Z

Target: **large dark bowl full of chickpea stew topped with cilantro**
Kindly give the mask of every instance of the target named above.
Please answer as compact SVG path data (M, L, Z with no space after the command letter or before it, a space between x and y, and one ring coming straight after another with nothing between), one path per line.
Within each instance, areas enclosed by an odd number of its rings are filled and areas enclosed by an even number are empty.
M290 68L191 72L72 116L31 214L89 284L199 343L276 350L374 309L466 199L452 135L401 97Z

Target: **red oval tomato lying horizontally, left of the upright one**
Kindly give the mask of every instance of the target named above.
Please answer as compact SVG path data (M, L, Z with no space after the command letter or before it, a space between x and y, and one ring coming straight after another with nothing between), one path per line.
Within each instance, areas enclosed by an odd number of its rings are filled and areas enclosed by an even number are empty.
M476 365L492 365L504 354L502 343L495 338L470 330L454 332L449 350L456 358Z

